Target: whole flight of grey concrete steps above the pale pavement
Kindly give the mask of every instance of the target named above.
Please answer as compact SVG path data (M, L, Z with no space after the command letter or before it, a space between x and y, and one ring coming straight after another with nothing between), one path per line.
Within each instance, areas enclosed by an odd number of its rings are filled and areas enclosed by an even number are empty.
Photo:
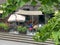
M17 42L24 42L24 43L30 43L30 44L54 44L54 42L51 39L48 39L45 42L35 42L32 38L32 36L27 35L15 35L15 34L9 34L9 33L0 33L0 39L3 40L9 40L9 41L17 41Z

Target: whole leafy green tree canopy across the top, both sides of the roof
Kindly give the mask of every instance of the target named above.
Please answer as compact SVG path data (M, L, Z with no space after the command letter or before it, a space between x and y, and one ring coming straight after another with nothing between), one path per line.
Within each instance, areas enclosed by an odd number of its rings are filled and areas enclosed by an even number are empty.
M41 3L41 7L39 8L44 13L54 13L55 8L60 7L60 0L38 0ZM16 11L19 7L22 7L27 2L31 2L32 6L35 6L38 2L36 0L7 0L6 3L2 4L3 18L7 17L12 12Z

